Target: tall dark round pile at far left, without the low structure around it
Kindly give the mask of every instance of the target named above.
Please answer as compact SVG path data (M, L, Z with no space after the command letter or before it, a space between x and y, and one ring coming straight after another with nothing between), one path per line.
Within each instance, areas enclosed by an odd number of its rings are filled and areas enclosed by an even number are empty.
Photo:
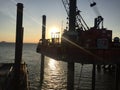
M16 43L15 43L15 90L20 88L20 65L22 62L22 46L23 46L23 4L17 4L17 20L16 20Z

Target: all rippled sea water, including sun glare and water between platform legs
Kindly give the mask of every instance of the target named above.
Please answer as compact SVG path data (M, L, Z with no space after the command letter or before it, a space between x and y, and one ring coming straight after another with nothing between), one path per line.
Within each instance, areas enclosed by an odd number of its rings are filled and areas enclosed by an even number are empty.
M36 53L36 44L23 45L23 61L29 70L30 90L40 90L40 54ZM14 62L15 45L0 43L0 63ZM75 64L75 90L91 90L92 65ZM66 90L67 63L45 57L44 80L42 90ZM81 78L80 78L81 77ZM114 90L115 73L103 70L96 72L96 90Z

